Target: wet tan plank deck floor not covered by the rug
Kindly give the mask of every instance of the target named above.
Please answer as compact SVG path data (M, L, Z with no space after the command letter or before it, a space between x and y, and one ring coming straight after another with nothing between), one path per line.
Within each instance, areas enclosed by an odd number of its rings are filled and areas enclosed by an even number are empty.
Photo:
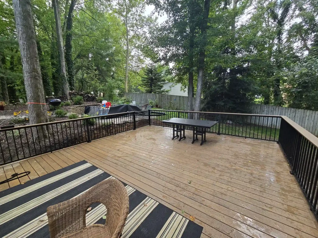
M276 142L208 134L207 142L171 140L146 126L0 167L0 190L86 160L167 207L195 217L201 237L318 237L310 212Z

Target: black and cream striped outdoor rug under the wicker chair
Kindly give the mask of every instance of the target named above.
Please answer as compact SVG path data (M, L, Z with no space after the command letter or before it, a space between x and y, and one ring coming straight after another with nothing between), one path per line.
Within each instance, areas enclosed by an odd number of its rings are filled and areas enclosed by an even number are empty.
M81 161L0 192L0 237L50 237L46 208L113 176ZM129 213L122 238L198 238L202 227L124 183ZM147 204L147 205L144 205ZM105 223L105 206L93 204L86 224Z

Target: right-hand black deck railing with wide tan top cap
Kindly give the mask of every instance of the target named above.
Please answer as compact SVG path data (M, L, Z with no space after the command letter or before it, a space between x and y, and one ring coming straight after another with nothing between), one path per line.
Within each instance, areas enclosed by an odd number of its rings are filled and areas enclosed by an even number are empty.
M278 141L290 164L290 173L295 175L317 218L318 138L288 117L282 116Z

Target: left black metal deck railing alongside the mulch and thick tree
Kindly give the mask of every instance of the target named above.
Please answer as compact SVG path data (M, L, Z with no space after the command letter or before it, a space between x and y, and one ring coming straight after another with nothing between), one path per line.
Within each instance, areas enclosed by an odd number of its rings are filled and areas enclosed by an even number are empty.
M0 164L149 125L149 110L0 129Z

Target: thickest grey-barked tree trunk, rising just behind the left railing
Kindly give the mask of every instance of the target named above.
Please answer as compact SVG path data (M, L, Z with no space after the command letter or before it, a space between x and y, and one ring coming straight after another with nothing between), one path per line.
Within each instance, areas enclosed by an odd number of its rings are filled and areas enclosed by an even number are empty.
M13 9L23 66L25 91L29 102L29 120L31 124L49 122L31 12L31 1L13 0ZM39 135L41 134L39 132Z

